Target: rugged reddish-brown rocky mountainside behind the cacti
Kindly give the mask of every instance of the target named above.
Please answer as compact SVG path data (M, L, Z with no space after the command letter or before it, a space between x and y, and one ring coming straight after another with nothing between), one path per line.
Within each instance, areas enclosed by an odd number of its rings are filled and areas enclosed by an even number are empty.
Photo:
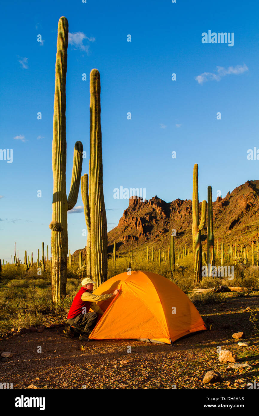
M227 193L225 198L218 197L213 206L213 226L215 243L250 245L259 236L259 181L247 181ZM200 201L201 209L201 201ZM108 233L108 253L113 250L116 241L120 254L128 253L133 240L136 252L145 250L147 245L167 249L172 229L175 229L176 248L184 245L192 247L192 201L176 199L165 202L154 196L142 202L131 197L129 206L123 212L118 225ZM202 246L207 244L206 227L202 230ZM76 250L75 255L78 250ZM83 250L83 257L85 249Z

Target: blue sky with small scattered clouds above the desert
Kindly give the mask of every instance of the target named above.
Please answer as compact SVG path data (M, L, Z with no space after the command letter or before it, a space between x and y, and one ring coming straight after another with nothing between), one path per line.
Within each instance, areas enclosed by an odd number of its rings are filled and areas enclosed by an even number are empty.
M224 197L259 179L259 161L247 160L248 149L259 149L258 12L255 2L241 0L2 1L0 148L13 149L13 161L0 160L0 258L10 261L14 241L20 258L25 249L36 258L42 241L50 250L59 17L67 17L71 33L67 194L77 140L87 153L82 173L88 173L89 73L97 68L111 230L128 206L128 200L113 198L114 188L146 188L147 199L157 195L167 202L191 199L194 163L200 201L207 199L208 185L215 200L217 190ZM203 44L209 30L234 32L234 45ZM37 42L39 34L43 42ZM75 211L68 215L72 253L86 245L84 213Z

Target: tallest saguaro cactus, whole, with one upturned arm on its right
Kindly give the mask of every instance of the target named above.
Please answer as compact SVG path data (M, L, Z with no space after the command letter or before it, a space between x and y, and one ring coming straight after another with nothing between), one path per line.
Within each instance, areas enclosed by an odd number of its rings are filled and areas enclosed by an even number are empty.
M56 79L53 116L52 170L53 197L51 251L52 251L52 300L57 302L66 294L67 283L67 210L77 201L82 168L83 145L77 141L74 147L74 161L69 196L66 191L66 74L67 74L68 21L59 19L57 34Z

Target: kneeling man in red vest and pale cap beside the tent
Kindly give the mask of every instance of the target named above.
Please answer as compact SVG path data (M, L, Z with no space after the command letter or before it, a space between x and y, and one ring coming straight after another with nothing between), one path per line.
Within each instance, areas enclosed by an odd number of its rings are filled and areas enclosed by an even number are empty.
M71 337L73 328L80 332L79 341L89 341L89 335L94 329L98 314L103 315L104 312L96 305L95 302L99 300L106 300L111 296L115 296L118 293L116 289L113 293L107 293L106 295L93 295L95 282L89 277L86 277L81 282L81 289L74 297L72 305L67 315L68 327L66 331L66 337ZM94 312L89 312L89 309Z

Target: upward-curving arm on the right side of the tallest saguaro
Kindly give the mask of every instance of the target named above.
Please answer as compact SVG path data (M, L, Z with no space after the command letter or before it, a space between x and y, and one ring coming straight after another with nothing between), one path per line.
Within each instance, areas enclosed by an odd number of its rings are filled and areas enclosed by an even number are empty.
M73 169L69 196L67 198L67 210L71 210L76 205L78 198L80 178L83 162L83 144L81 141L76 141L74 147Z

